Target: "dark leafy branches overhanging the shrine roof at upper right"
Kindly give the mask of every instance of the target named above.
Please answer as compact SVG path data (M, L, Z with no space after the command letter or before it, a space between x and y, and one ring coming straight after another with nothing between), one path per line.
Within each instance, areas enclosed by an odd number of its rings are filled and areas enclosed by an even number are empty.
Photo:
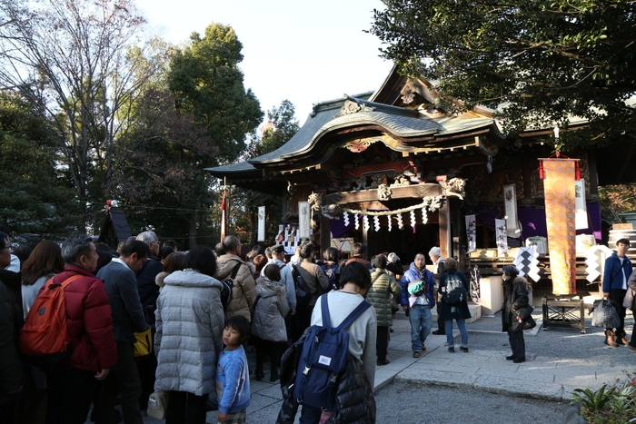
M569 147L633 135L636 4L628 0L383 0L371 32L402 73L423 76L457 108L506 104L514 133L528 125L561 133ZM462 103L452 103L460 100Z

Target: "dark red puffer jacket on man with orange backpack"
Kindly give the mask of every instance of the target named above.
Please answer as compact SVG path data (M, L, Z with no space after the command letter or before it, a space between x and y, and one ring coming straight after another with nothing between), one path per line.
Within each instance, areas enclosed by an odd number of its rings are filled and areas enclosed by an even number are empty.
M66 363L89 371L112 368L117 363L117 345L104 281L84 268L66 265L65 271L55 275L53 282L62 284L76 274L83 278L65 287L65 301L68 334L79 341Z

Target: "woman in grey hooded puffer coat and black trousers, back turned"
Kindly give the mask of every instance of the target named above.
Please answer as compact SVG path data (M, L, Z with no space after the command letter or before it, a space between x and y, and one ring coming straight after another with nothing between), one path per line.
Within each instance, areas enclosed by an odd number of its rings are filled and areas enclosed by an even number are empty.
M280 378L283 346L287 341L285 317L289 312L285 299L285 285L281 282L278 265L270 263L263 269L263 277L256 280L256 303L252 317L252 339L256 348L256 380L263 380L263 362L270 357L270 381Z

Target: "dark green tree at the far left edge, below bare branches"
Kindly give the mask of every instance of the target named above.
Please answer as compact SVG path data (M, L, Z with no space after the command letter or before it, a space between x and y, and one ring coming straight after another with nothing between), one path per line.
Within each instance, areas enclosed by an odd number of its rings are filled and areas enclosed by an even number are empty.
M0 222L17 234L59 240L82 208L55 165L52 133L32 104L0 94Z

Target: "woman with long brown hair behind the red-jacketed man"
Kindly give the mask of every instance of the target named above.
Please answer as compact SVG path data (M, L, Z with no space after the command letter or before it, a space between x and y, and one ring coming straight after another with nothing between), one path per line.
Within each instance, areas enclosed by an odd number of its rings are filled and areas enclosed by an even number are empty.
M26 313L45 282L64 271L62 249L56 242L40 242L22 265L22 307Z

